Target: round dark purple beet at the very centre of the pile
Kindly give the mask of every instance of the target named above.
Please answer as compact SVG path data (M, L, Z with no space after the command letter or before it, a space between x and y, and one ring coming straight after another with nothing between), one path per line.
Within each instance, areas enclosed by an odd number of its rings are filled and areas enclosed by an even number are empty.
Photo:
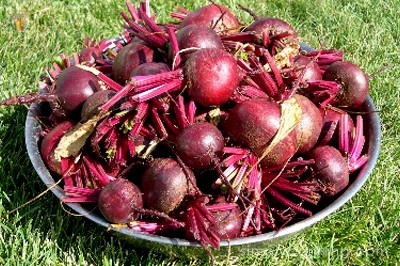
M175 139L176 152L187 166L207 170L222 157L225 146L221 131L211 123L200 122L182 129Z

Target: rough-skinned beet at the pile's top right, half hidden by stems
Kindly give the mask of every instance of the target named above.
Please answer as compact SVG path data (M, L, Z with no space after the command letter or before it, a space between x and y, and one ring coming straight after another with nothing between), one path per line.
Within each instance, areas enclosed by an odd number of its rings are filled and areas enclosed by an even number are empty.
M289 23L283 21L278 18L260 18L254 21L246 31L254 31L260 36L266 35L270 38L277 34L281 34L284 32L290 32L291 34L284 38L287 43L295 43L299 42L297 32L290 26Z

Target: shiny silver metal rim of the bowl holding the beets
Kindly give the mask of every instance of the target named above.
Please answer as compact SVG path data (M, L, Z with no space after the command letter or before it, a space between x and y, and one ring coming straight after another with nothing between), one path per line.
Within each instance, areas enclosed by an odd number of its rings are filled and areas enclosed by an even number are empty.
M309 46L302 45L302 48L312 49ZM370 176L379 156L380 146L381 146L381 123L378 112L373 104L372 98L368 95L364 105L364 109L368 112L368 122L370 125L369 128L369 138L368 138L368 155L369 160L368 162L361 168L357 177L354 181L348 186L348 188L341 194L336 200L334 200L331 204L327 205L324 209L318 211L313 216L308 217L300 222L294 223L287 227L284 227L278 231L271 231L259 235L248 236L243 238L236 238L230 241L220 241L220 247L230 247L230 246L238 246L238 245L248 245L260 242L270 242L275 241L277 239L284 238L286 236L292 235L294 233L298 233L311 225L316 224L317 222L321 221L328 215L332 214L340 207L342 207L347 201L350 200L364 185L368 177ZM55 185L55 180L51 175L50 171L47 169L44 161L39 152L38 142L39 137L38 133L41 130L40 123L34 117L33 109L38 108L38 105L33 104L30 107L30 110L27 114L27 118L25 121L25 145L27 148L27 152L29 158L32 162L34 169L36 170L37 174L39 175L40 179L46 184L46 186L57 196L59 199L64 197L63 189ZM85 216L89 220L126 235L128 237L134 237L137 239L142 239L146 241L156 242L160 244L168 244L168 245L175 245L175 246L186 246L186 247L201 247L201 245L195 241L189 241L182 238L171 238L159 235L153 235L148 233L141 233L129 228L115 228L111 227L111 224L107 222L103 217L90 213L89 210L83 208L79 203L65 203L75 212L79 213L80 215Z

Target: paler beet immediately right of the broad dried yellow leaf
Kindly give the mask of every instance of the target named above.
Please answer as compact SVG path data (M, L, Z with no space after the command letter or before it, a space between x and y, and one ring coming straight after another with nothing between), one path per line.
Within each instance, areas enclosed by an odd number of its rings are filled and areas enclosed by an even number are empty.
M298 153L311 150L318 141L322 129L322 116L318 107L307 97L300 94L294 95L303 111L301 121L296 126Z

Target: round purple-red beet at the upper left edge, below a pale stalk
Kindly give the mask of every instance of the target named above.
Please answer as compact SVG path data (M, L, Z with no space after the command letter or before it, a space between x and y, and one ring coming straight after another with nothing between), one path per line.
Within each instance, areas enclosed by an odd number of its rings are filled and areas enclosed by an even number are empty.
M100 89L99 79L95 75L71 66L58 76L54 94L59 98L61 107L73 117L80 114L87 98Z

